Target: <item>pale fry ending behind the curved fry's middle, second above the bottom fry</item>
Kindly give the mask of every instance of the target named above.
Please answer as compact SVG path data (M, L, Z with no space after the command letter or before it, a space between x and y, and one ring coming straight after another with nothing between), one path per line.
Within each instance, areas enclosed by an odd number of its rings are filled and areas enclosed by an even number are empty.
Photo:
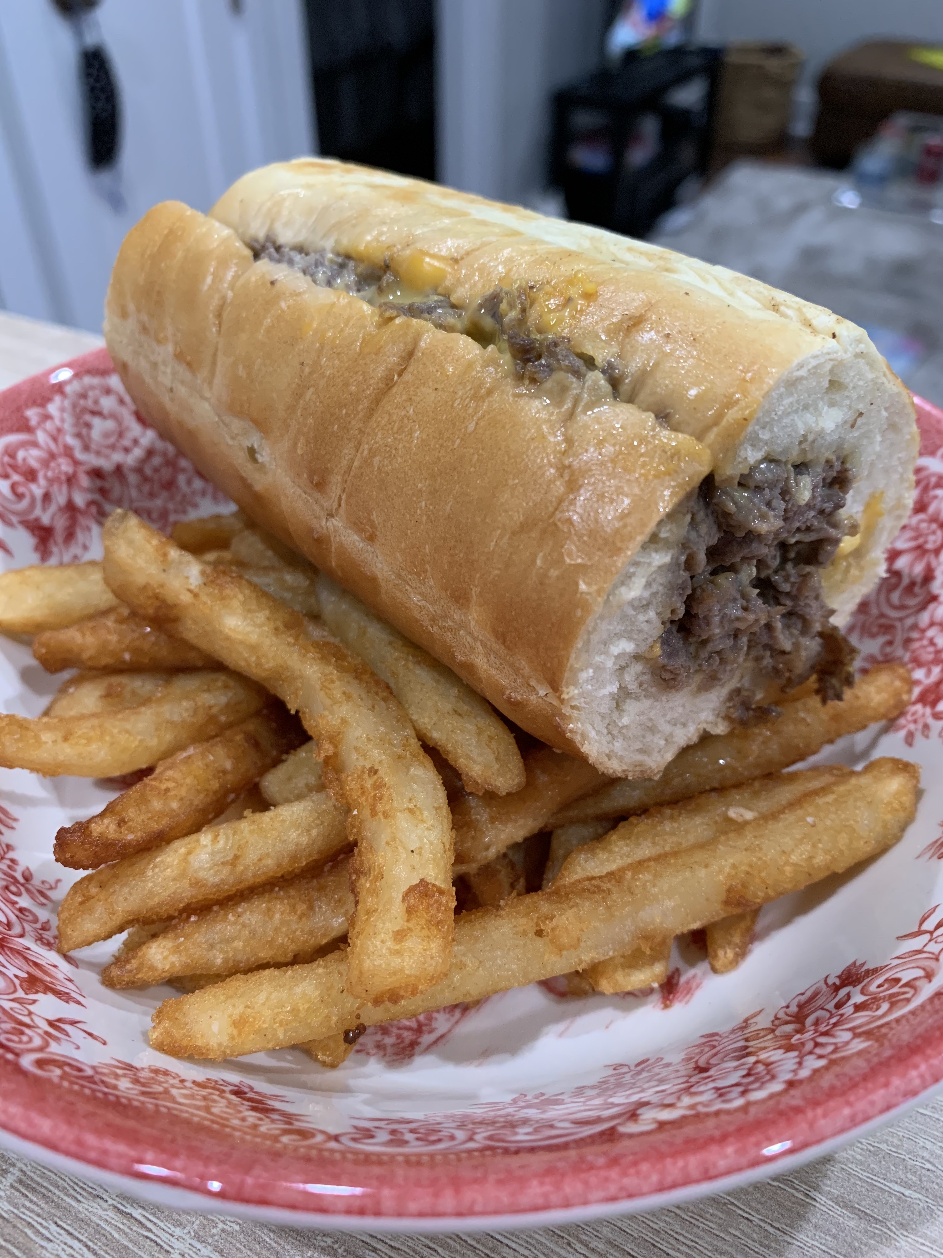
M345 809L321 793L124 857L79 878L65 893L59 951L215 905L329 860L347 844Z

